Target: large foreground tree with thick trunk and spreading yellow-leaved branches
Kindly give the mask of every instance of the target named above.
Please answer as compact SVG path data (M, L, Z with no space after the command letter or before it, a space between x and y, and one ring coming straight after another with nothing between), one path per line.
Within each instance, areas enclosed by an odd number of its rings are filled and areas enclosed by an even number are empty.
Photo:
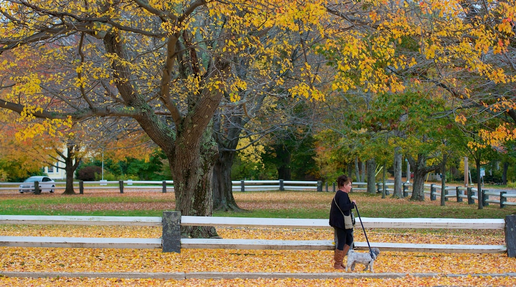
M322 2L2 1L0 107L21 120L41 118L41 127L71 125L101 117L138 122L167 155L176 209L183 215L212 214L212 173L218 156L213 115L224 96L239 102L248 89L238 72L250 67L252 88L282 85L271 60L306 51L284 42L272 28L325 33ZM240 65L235 58L249 63ZM4 60L6 59L6 60ZM15 59L12 61L12 59ZM21 62L25 63L23 69ZM309 64L289 95L317 99ZM252 91L252 88L250 91ZM123 127L126 123L120 121ZM185 227L193 237L216 236L214 228Z

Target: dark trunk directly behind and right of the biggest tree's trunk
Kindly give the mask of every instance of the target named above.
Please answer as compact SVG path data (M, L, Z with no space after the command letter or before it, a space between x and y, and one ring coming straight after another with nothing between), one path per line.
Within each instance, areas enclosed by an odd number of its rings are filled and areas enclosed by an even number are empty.
M231 183L231 166L235 157L234 150L219 149L219 157L213 170L213 206L214 210L242 211L233 197Z

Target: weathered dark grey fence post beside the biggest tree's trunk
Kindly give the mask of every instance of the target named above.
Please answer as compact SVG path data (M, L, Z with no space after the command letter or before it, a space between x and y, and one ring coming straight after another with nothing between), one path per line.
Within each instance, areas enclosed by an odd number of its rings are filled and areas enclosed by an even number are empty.
M181 253L181 212L163 211L163 252Z

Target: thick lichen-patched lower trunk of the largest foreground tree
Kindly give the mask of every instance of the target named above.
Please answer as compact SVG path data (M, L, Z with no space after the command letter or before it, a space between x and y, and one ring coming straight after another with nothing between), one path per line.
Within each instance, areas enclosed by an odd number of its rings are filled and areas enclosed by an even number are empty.
M200 141L188 133L176 138L173 154L167 155L174 179L175 210L182 216L213 215L213 168L218 149L209 124ZM181 156L175 156L180 154ZM182 236L218 237L214 227L181 226Z

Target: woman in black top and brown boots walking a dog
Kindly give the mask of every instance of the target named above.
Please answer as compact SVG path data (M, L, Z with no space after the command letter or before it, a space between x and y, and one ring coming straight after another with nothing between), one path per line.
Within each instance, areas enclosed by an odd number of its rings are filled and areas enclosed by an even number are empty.
M333 268L345 270L342 264L344 256L348 253L349 247L353 243L353 228L346 229L344 227L344 216L349 216L351 209L356 205L356 201L350 201L348 193L351 191L351 177L341 175L337 178L338 190L331 201L330 208L330 226L335 228L337 244L335 245L335 254L333 259L335 263Z

